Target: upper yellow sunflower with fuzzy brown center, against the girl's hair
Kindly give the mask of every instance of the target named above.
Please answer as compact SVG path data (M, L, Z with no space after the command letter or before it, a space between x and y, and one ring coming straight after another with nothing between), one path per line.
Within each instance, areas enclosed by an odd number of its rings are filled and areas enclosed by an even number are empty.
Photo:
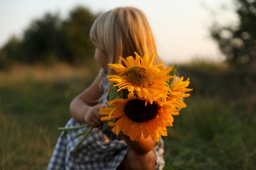
M122 58L124 65L121 63L108 64L108 66L114 69L119 75L109 75L108 80L114 82L120 90L128 90L129 96L137 95L138 97L153 103L153 97L167 97L170 92L167 81L173 76L168 74L172 71L173 67L160 70L161 64L152 65L154 61L154 54L148 58L148 54L145 54L141 58L136 52L136 56L129 56Z

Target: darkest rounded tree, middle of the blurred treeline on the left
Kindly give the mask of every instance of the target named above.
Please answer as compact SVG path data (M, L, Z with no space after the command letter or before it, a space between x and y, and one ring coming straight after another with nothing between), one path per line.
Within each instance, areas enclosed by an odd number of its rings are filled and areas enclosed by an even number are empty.
M58 60L63 55L62 21L58 14L45 14L24 31L22 61L35 63Z

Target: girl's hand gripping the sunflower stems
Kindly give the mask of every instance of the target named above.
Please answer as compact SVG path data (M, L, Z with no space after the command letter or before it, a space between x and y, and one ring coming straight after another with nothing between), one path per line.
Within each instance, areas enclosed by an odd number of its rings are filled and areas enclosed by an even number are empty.
M100 109L107 107L107 105L95 105L91 107L89 112L85 114L85 123L92 127L99 127L102 125L100 118L102 117L98 112Z

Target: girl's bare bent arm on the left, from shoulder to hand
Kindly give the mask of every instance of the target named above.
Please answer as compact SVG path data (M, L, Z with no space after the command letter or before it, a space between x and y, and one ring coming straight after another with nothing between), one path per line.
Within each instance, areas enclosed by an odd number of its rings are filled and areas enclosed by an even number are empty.
M78 122L85 122L93 127L98 127L102 124L100 114L98 114L102 105L97 105L98 99L103 93L100 88L102 78L102 73L99 73L93 83L70 103L70 114Z

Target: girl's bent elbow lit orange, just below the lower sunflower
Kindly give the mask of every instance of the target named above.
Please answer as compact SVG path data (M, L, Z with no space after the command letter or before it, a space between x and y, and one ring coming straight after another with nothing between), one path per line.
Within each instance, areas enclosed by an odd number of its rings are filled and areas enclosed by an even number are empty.
M131 141L129 136L123 135L123 133L121 133L121 136L125 140L125 143L127 143L127 145L129 146L129 148L131 148L139 155L150 152L150 150L152 150L156 144L156 141L154 141L151 137L148 137L148 139L140 137L139 141Z

